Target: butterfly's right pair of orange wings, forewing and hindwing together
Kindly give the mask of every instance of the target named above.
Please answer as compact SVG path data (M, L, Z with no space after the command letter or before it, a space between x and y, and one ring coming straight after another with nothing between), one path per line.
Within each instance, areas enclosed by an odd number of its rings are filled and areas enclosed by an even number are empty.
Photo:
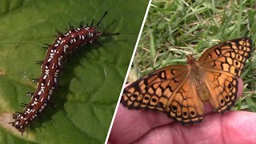
M250 38L238 38L222 42L206 50L198 60L206 71L210 91L210 103L218 112L224 113L234 106L238 92L238 80L250 57Z

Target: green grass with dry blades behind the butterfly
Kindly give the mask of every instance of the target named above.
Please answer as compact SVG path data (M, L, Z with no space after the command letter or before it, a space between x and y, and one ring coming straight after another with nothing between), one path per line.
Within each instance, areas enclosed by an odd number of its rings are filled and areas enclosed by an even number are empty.
M232 38L250 37L255 44L255 7L256 2L246 0L153 0L128 82L134 82L152 70L164 66L186 64L184 54L192 54L192 51L194 58L198 59L206 48ZM256 112L254 50L255 48L242 72L244 94L238 99L233 110Z

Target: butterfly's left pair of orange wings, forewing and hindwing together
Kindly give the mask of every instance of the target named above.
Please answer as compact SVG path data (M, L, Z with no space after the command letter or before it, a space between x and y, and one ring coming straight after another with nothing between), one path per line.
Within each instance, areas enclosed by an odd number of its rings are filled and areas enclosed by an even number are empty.
M122 104L129 109L165 112L183 125L201 122L203 103L191 85L186 66L167 66L127 86Z

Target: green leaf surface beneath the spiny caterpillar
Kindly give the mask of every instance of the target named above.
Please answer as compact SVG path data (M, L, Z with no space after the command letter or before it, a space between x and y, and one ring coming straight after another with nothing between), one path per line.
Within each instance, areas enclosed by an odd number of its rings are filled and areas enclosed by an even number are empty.
M148 2L144 0L0 0L0 143L102 143L105 141L122 82ZM35 62L45 57L42 43L54 41L55 29L68 22L91 22L108 15L98 26L106 33L90 46L81 46L64 64L54 109L42 113L23 136L6 122L6 114L21 111L20 103L34 92L40 76ZM50 106L49 106L50 107Z

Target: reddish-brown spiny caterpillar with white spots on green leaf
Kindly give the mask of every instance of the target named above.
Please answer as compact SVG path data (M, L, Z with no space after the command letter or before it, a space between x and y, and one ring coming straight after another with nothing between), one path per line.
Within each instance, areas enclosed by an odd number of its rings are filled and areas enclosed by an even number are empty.
M96 26L102 22L106 14L107 12L103 14ZM34 82L38 82L38 88L34 93L27 93L28 96L31 96L31 101L28 104L22 103L25 110L16 112L16 114L14 114L14 122L10 122L12 126L22 132L22 134L25 127L32 122L34 118L37 118L38 114L50 103L50 97L54 92L58 82L58 75L62 70L63 60L79 46L90 44L103 34L102 31L96 30L93 25L94 20L91 22L90 26L87 24L85 27L83 27L82 22L80 22L80 26L76 29L70 25L70 30L65 34L56 30L58 36L55 38L54 43L52 45L46 44L48 48L46 58L44 58L43 61L37 62L41 64L41 76L33 80ZM117 34L119 33L105 35Z

